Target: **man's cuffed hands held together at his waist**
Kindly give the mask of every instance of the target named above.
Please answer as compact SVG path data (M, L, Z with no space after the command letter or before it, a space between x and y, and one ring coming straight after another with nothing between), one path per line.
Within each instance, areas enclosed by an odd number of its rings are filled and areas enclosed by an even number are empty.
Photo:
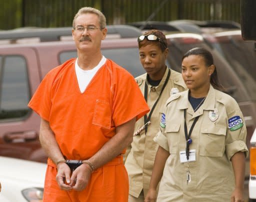
M92 169L86 163L82 163L78 166L70 177L70 168L64 162L58 163L56 181L62 190L83 190L90 179Z

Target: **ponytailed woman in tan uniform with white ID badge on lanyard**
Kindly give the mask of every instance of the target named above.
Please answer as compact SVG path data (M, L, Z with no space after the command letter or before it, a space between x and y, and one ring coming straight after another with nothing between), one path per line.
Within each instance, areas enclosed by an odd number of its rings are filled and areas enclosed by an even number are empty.
M209 51L182 58L188 90L165 103L145 201L243 201L246 127L236 101L221 92Z

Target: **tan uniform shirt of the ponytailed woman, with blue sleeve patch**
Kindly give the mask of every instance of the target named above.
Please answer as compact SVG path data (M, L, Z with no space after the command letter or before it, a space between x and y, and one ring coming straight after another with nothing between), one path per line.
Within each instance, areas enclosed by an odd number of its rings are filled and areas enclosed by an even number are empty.
M184 114L191 133L189 149L195 149L195 161L180 162L180 151L186 147ZM154 138L170 152L159 184L157 201L230 201L234 176L230 158L244 151L246 127L236 101L210 86L203 104L194 112L188 101L188 90L171 96L166 101L165 127L160 127ZM164 122L164 121L162 121ZM187 170L191 181L187 183Z

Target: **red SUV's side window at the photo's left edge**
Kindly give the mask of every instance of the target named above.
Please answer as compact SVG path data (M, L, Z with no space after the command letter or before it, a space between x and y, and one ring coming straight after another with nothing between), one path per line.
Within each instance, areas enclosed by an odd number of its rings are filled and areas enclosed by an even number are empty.
M1 56L0 61L0 121L23 117L30 98L25 58Z

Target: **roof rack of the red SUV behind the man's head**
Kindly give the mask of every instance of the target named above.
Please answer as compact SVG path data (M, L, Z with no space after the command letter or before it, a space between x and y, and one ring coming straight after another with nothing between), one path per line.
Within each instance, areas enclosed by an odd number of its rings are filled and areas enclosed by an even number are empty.
M138 37L141 30L130 25L107 25L108 34L118 34L121 38ZM71 36L72 27L22 27L0 31L0 39L17 40L21 38L39 37L40 41L57 41L61 36Z

